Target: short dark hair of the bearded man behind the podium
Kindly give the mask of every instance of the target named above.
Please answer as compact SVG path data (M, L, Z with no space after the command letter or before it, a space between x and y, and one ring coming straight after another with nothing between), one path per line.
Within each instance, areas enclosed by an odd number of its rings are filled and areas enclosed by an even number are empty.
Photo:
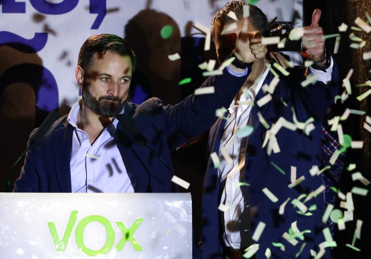
M107 50L121 56L129 56L132 61L132 72L134 72L137 63L134 51L124 39L113 34L99 34L89 37L80 48L77 65L81 66L84 71L88 71L93 55L95 53L104 54Z

